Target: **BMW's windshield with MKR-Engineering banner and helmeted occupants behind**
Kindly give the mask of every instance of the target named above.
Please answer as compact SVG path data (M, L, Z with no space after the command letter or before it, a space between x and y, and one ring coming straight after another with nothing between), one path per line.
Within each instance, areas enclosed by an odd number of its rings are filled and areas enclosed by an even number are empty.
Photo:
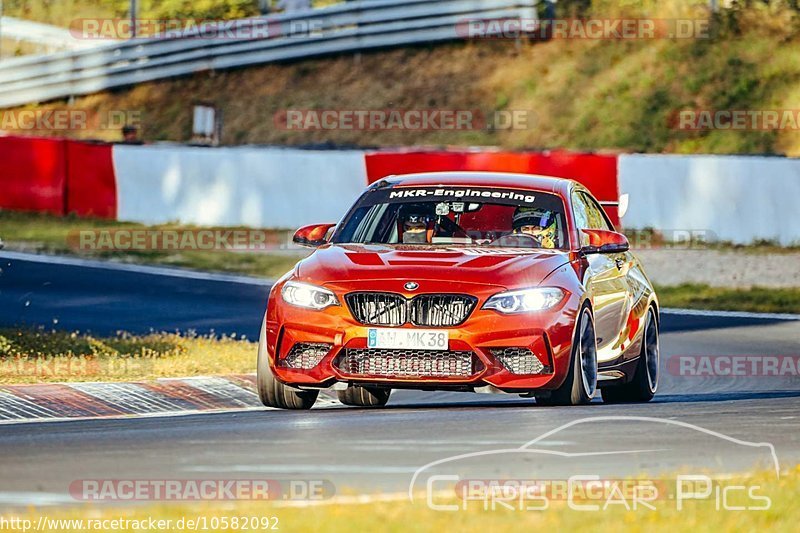
M370 189L333 242L565 249L564 204L523 189Z

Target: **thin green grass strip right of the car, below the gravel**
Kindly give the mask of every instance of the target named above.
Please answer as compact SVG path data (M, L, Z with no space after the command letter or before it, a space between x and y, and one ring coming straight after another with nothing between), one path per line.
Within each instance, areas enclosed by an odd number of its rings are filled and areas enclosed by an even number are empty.
M656 287L656 293L662 307L800 313L800 288L729 289L684 283L670 287Z

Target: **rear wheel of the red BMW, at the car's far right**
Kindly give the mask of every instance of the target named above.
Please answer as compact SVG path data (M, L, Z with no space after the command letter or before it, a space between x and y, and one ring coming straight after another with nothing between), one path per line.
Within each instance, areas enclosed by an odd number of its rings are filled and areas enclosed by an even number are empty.
M660 348L658 343L658 320L656 311L651 307L647 311L642 351L633 379L625 385L601 389L605 403L645 403L655 396L658 390L658 372L660 364Z

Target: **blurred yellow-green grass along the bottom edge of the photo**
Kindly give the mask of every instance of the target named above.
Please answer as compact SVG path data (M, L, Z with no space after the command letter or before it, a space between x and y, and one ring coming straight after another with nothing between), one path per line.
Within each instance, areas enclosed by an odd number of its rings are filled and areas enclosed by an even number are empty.
M722 485L723 482L720 482ZM269 502L228 502L211 504L155 504L141 507L72 507L40 511L28 509L18 518L36 524L40 516L53 520L84 520L64 522L59 531L81 531L88 519L113 520L171 520L172 527L183 519L199 521L217 531L241 531L245 519L264 520L269 530L273 524L280 531L675 531L677 528L697 532L719 531L796 531L800 520L800 468L785 473L776 479L773 473L759 473L751 477L733 478L724 481L724 486L743 485L759 487L756 493L770 499L770 507L762 511L717 510L714 496L698 501L685 502L683 510L677 510L675 501L656 502L656 510L640 507L628 510L622 505L612 505L606 511L581 512L570 509L566 502L553 502L544 511L507 510L502 507L486 511L473 505L466 511L432 511L424 503L412 504L408 500L353 505L316 505L310 507L284 507ZM741 494L741 493L738 493ZM734 496L729 504L743 503ZM445 503L445 502L437 502ZM455 501L454 501L455 503ZM479 502L473 502L479 503ZM763 502L754 502L761 505ZM239 527L231 527L238 520ZM223 524L227 522L228 527ZM118 531L132 531L134 527L118 524Z

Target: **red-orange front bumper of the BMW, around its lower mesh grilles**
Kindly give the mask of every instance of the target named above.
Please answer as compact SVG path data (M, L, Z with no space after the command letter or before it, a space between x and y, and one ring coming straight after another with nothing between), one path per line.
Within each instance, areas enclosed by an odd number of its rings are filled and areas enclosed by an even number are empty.
M265 316L266 349L270 367L282 383L298 388L327 388L336 383L386 386L392 388L475 390L482 387L503 392L525 393L538 389L554 389L563 383L568 369L575 317L580 302L568 293L555 308L536 313L503 315L481 306L487 295L479 296L479 303L469 318L456 327L441 328L449 334L449 348L436 352L440 365L447 367L448 354L465 352L471 354L472 365L467 375L443 375L442 372L421 370L418 372L353 373L348 371L342 358L348 353L366 353L367 326L357 322L346 305L329 307L322 311L308 310L288 305L274 290ZM405 325L403 328L414 329ZM430 329L430 328L426 328ZM438 329L438 328L437 328ZM318 363L311 368L296 368L287 365L287 356L297 344L328 345ZM497 355L502 349L530 350L541 363L535 374L515 373ZM348 352L356 350L358 352ZM380 358L408 357L408 353L381 350ZM516 352L515 352L516 353ZM430 355L430 354L429 354ZM378 356L376 356L378 357ZM453 356L455 357L455 356ZM378 364L376 364L376 362ZM385 363L372 360L372 367ZM393 362L389 362L393 363ZM387 365L383 365L387 366ZM424 365L422 365L424 366ZM388 364L396 368L396 365ZM519 370L519 369L517 369ZM436 374L436 375L432 375Z

